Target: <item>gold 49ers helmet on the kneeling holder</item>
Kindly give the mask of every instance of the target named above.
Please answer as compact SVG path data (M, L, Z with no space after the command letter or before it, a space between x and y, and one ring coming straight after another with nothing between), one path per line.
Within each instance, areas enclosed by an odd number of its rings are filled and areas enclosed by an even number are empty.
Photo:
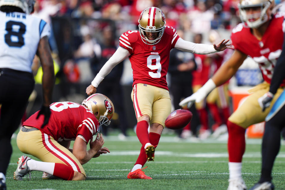
M92 94L83 100L82 105L93 112L100 126L110 125L114 114L114 105L107 96L103 94Z

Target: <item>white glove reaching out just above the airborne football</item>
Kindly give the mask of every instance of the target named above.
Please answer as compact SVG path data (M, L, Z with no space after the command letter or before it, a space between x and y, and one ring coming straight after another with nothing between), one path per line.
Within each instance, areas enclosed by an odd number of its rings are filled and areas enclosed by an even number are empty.
M183 107L187 105L188 108L190 108L194 102L199 103L202 100L206 98L206 96L212 91L214 88L216 88L216 84L213 82L212 79L208 80L205 85L203 85L197 92L192 94L191 96L183 99L180 103L179 106Z

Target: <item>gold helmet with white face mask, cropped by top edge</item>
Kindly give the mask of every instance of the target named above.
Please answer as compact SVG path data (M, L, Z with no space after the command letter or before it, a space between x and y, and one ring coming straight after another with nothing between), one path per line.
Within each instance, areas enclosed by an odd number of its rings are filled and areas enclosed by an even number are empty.
M240 0L238 9L240 12L240 19L246 22L250 28L257 28L269 19L271 15L267 15L267 10L273 8L274 0ZM247 14L249 8L260 9L260 12L254 14Z

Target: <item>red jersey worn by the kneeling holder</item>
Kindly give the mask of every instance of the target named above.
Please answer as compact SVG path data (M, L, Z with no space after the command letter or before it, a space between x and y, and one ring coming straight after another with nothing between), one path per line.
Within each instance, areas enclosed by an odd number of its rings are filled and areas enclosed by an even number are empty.
M97 132L99 122L95 115L83 105L74 102L55 102L50 105L50 119L41 128L44 115L37 119L38 112L29 117L23 125L35 127L52 136L56 141L75 140L81 134L86 142Z

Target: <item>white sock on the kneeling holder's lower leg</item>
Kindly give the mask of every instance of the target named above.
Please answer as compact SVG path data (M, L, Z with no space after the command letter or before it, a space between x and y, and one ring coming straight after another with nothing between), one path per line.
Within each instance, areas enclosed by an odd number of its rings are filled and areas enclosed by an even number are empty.
M29 163L28 163L29 162ZM41 171L53 175L55 163L51 162L40 162L33 159L27 161L27 165L31 171Z

